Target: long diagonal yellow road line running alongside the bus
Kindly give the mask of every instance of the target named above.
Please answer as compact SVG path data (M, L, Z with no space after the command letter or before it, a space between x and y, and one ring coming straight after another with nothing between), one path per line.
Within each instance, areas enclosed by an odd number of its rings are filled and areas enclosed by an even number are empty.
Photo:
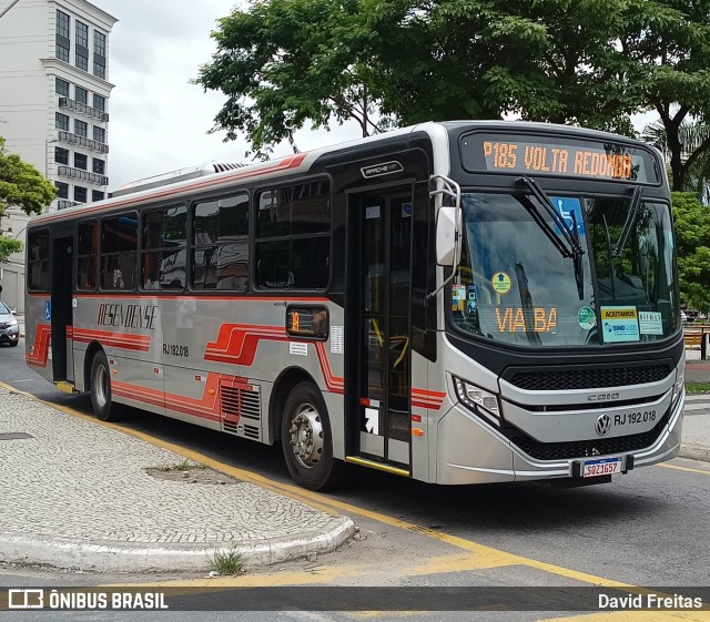
M11 390L13 392L20 394L20 395L24 395L26 397L33 399L34 401L39 401L41 404L44 404L51 408L57 408L59 410L61 410L62 412L65 412L67 415L71 415L74 417L79 417L85 420L91 420L94 424L99 424L102 425L106 428L123 432L123 434L128 434L131 435L133 437L140 438L141 440L144 440L151 445L154 445L156 447L162 447L164 449L169 449L180 456L183 456L190 460L193 460L195 462L199 463L204 463L213 469L220 470L222 472L225 472L227 475L231 475L233 477L236 477L239 479L243 479L245 481L251 481L253 483L256 483L258 486L262 486L263 488L266 488L273 492L277 492L281 494L286 494L288 497L291 497L292 499L296 499L298 501L302 501L308 506L312 506L316 509L326 511L328 513L331 513L332 516L338 516L338 512L333 510L332 508L335 508L337 510L341 510L343 512L346 513L351 513L351 514L357 514L361 517L365 517L368 518L371 520L384 523L384 524L388 524L390 527L395 527L398 529L404 529L407 531L412 531L414 533L419 533L422 536L425 536L427 538L433 538L435 540L438 540L439 542L445 542L452 547L456 547L458 549L463 549L465 551L468 551L470 553L473 553L474 555L476 555L476 559L478 560L478 563L480 565L478 565L478 568L495 568L495 567L503 567L503 565L513 565L513 564L519 564L519 565L526 565L528 568L534 568L537 570L541 570L544 572L548 572L550 574L556 574L559 577L565 577L568 579L574 579L577 581L581 581L584 583L591 583L595 585L602 585L602 587L608 587L608 588L626 588L628 591L633 592L633 593L647 593L647 590L642 590L639 588L636 588L629 583L625 583L621 581L615 581L611 579L606 579L604 577L598 577L596 574L590 574L588 572L580 572L577 570L572 570L569 568L564 568L560 565L556 565L552 563L547 563L544 561L539 561L539 560L535 560L535 559L530 559L530 558L525 558L521 555L517 555L514 553L507 553L505 551L500 551L498 549L494 549L491 547L487 547L484 544L479 544L477 542L474 542L471 540L466 540L465 538L459 538L457 536L450 536L448 533L444 533L440 531L436 531L434 529L429 529L426 527L422 527L418 524L414 524L410 523L408 521L405 520L400 520L400 519L396 519L393 517L388 517L386 514L379 513L379 512L375 512L372 510L367 510L365 508L359 508L357 506L353 506L351 503L346 503L344 501L338 501L336 499L332 499L328 498L320 492L313 492L311 490L306 490L300 487L296 487L295 485L287 485L287 483L280 483L280 482L274 482L273 480L270 480L263 476L258 476L256 473L252 473L250 471L245 471L243 469L239 469L236 467L232 467L231 465L226 465L224 462L220 462L219 460L214 460L213 458L210 458L203 453L200 453L197 451L193 451L191 449L186 449L182 446L172 443L172 442L168 442L164 440L161 440L159 438L152 437L148 434L144 432L140 432L138 430L131 430L124 427L121 427L119 425L115 424L110 424L110 422L105 422L105 421L101 421L99 419L95 419L94 417L90 417L87 415L83 415L82 412L79 412L77 410L74 410L73 408L69 408L65 406L59 406L59 405L54 405L51 404L49 401L44 401L41 399L38 399L37 397L34 397L31 394L28 394L26 391L21 391L18 390L13 387L10 387L8 385L6 385L4 383L0 383L0 386L3 386L4 388L7 388L8 390ZM460 562L460 558L456 558L456 561L453 562L452 568L455 569L456 568L456 563ZM442 560L440 561L440 565L439 568L445 569L445 561ZM446 572L446 570L442 570L444 572ZM301 575L302 573L300 573ZM225 578L229 579L229 578ZM240 580L243 578L234 578L235 580ZM263 579L263 578L262 578ZM182 582L181 584L192 584L193 580L186 580L184 582ZM210 584L214 585L213 580L210 580ZM240 583L241 584L241 583ZM280 583L283 584L283 583Z

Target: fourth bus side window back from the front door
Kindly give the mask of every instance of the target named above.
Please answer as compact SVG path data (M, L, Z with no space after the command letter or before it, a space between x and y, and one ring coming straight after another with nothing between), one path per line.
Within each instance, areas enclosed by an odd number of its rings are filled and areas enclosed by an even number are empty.
M101 221L101 287L135 289L138 214L126 212Z

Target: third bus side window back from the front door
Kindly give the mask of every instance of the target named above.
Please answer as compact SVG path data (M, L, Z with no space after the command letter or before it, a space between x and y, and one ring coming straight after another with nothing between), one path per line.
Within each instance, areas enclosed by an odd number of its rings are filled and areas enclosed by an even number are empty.
M187 207L175 205L143 215L141 247L144 289L183 289L186 279Z

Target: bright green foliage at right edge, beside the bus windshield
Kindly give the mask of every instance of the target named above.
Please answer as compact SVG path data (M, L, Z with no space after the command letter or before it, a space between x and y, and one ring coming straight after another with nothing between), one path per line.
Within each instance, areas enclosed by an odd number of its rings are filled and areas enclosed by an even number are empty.
M710 210L693 193L672 194L680 296L691 308L710 312Z

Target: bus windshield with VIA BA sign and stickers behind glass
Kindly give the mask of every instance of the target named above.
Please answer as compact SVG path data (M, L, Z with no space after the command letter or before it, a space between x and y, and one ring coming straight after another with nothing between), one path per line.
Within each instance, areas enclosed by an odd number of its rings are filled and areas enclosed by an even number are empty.
M462 206L458 329L528 347L615 346L678 330L666 203L638 188L613 197L464 193Z

